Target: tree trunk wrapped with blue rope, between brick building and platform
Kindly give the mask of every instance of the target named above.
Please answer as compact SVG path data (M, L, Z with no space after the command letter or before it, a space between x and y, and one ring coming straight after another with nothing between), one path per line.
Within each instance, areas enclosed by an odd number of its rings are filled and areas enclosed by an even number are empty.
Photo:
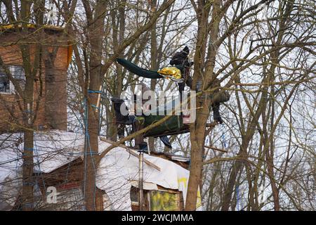
M88 4L85 2L84 4ZM105 1L97 1L92 20L90 6L85 5L86 14L89 18L88 38L91 46L91 57L89 62L89 84L88 94L86 95L86 134L84 150L84 200L86 210L100 210L103 203L102 196L97 195L96 172L98 159L98 135L99 135L99 110L97 108L98 93L101 84L101 62L103 49L103 27L105 20L106 5Z

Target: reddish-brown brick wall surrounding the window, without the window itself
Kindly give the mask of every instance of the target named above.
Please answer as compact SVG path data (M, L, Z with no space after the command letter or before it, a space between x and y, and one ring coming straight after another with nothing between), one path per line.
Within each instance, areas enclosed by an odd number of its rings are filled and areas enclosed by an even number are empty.
M47 32L48 31L48 32ZM67 130L67 39L58 30L47 30L39 35L29 35L23 38L20 32L10 30L0 31L0 57L6 65L22 65L22 53L20 43L29 46L31 62L34 53L39 51L35 43L40 43L42 48L41 70L34 82L33 110L37 108L35 129L62 129ZM32 34L34 30L29 30ZM46 51L45 51L45 50ZM56 52L51 68L47 67L48 53ZM49 73L49 77L47 76ZM22 99L15 94L0 93L0 132L22 130ZM14 119L8 111L11 111Z

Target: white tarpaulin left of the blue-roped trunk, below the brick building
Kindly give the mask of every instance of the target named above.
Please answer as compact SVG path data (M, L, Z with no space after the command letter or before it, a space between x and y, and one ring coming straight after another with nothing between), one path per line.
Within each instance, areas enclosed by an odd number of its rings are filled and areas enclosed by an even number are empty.
M0 210L10 210L22 191L23 134L1 134L0 146ZM81 157L83 148L82 134L35 132L34 172L49 173L66 165Z

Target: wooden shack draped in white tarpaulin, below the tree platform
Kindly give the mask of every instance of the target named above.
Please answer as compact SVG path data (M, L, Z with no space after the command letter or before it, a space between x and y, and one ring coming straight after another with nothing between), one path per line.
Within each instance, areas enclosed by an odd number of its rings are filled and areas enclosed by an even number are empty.
M0 134L0 210L20 210L22 133ZM86 210L84 203L84 134L49 130L34 132L34 210ZM113 142L99 137L99 150ZM144 154L144 210L183 210L190 159L166 153ZM96 169L96 210L139 210L139 153L119 145ZM57 200L48 201L50 188Z

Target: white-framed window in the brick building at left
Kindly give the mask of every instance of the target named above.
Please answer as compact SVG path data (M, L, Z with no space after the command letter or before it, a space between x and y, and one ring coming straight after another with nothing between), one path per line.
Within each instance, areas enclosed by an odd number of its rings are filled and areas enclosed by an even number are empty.
M21 89L25 86L25 71L20 65L9 65L8 69L11 72L13 78L18 82ZM14 85L8 79L8 75L3 68L0 68L0 93L14 93Z

